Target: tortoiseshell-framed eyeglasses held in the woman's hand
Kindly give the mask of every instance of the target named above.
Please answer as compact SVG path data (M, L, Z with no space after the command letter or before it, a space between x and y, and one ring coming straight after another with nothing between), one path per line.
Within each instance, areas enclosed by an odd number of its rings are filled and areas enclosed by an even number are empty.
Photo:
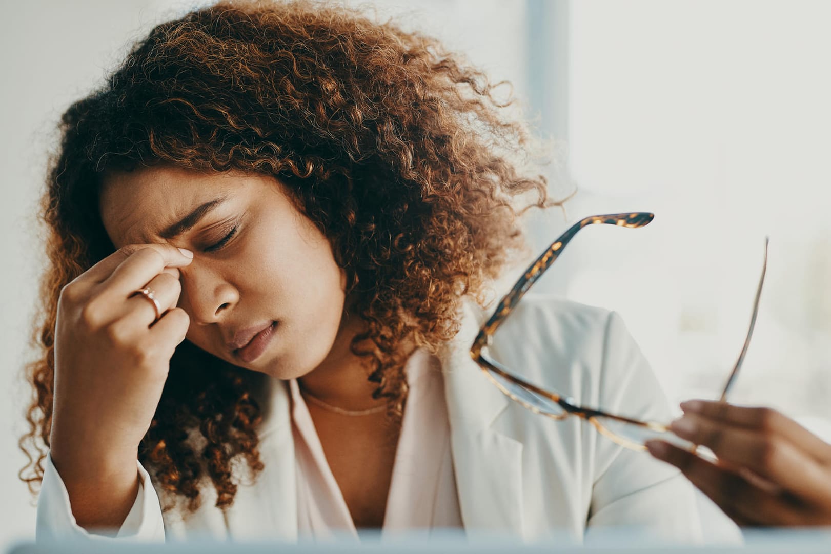
M653 213L645 212L611 213L607 215L589 216L578 221L578 223L574 223L525 270L523 276L519 278L519 281L516 282L514 287L499 301L494 315L484 323L479 330L479 335L476 336L473 346L470 347L470 357L475 360L484 371L484 374L488 376L488 379L499 390L509 396L511 400L519 402L519 404L522 404L534 413L545 415L551 419L566 419L569 416L576 415L593 424L600 434L608 439L612 439L627 449L644 450L646 449L645 444L648 440L661 439L676 444L683 449L694 451L696 449L695 444L678 438L665 424L660 424L655 421L632 419L622 415L610 414L602 409L580 406L568 396L561 395L553 390L543 390L518 377L513 371L506 368L499 361L494 360L489 354L489 346L491 346L496 330L504 323L505 319L517 304L519 304L519 300L528 292L529 288L537 282L539 277L542 277L548 267L551 267L554 260L559 257L560 253L563 252L563 249L566 248L566 245L568 245L580 229L596 224L641 228L651 223L653 218L655 218ZM721 400L725 400L727 393L735 383L736 375L738 375L740 367L745 360L748 346L750 345L750 337L753 335L753 329L756 323L756 314L759 311L762 284L765 282L765 270L768 257L767 250L768 239L765 238L765 262L762 267L759 286L756 289L753 315L750 318L750 328L747 331L745 344L741 349L739 358L736 360L727 384L721 394Z

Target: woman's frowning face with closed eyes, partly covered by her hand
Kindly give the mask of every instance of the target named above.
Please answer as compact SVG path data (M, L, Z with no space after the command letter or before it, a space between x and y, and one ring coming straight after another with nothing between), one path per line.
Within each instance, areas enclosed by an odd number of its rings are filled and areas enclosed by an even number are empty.
M180 270L179 307L199 348L278 379L305 375L332 350L346 276L275 179L170 167L113 174L101 218L116 247L194 252Z

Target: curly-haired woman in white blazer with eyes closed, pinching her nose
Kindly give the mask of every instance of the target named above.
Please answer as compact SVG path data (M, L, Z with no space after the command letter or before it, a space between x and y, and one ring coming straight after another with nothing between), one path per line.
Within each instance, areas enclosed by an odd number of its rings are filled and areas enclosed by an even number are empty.
M39 537L695 539L675 469L509 403L470 359L519 211L549 203L491 92L391 23L234 2L155 27L71 105L29 375ZM617 316L512 317L499 340L541 385L666 418Z

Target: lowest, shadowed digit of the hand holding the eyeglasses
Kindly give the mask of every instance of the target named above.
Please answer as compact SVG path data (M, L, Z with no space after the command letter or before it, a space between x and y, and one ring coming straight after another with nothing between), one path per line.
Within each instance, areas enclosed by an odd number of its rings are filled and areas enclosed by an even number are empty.
M756 488L747 479L696 454L660 440L647 442L649 453L681 470L730 519L743 527L792 525L801 517L798 508L782 495Z

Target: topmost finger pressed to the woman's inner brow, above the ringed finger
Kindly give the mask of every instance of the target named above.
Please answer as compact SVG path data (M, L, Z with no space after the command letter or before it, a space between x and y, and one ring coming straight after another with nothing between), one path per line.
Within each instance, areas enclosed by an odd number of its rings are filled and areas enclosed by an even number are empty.
M185 256L179 248L169 244L145 245L130 254L103 284L118 295L129 295L144 287L165 267L184 267L192 261L192 257Z

